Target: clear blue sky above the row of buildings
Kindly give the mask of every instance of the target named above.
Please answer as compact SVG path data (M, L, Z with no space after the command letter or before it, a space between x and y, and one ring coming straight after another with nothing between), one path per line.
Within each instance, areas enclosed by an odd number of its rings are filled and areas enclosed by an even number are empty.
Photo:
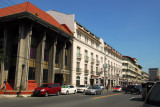
M0 0L0 8L27 1L43 11L75 14L120 54L136 58L143 71L160 68L160 0Z

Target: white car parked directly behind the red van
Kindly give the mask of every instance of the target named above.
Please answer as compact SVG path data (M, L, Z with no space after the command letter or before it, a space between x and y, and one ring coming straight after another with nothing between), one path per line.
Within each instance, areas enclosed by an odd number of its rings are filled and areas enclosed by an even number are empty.
M77 88L73 85L63 85L61 87L61 94L71 94L71 93L76 93L77 92Z

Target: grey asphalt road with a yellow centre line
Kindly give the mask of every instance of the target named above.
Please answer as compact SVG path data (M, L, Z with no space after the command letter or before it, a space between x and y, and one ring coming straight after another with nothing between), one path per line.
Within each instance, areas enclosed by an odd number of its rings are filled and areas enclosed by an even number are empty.
M0 107L140 107L141 95L104 92L101 95L83 93L49 97L3 97Z

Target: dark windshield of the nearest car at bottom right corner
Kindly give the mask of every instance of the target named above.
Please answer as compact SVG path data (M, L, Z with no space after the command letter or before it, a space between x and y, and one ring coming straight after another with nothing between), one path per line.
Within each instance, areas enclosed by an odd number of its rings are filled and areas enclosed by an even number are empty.
M160 82L155 84L146 99L146 104L160 106Z

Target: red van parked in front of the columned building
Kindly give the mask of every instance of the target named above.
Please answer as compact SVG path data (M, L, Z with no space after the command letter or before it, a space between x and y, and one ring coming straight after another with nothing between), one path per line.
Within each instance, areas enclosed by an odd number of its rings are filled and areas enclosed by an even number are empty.
M44 83L33 91L34 96L44 95L45 97L51 94L56 94L59 96L60 93L61 85L59 83Z

